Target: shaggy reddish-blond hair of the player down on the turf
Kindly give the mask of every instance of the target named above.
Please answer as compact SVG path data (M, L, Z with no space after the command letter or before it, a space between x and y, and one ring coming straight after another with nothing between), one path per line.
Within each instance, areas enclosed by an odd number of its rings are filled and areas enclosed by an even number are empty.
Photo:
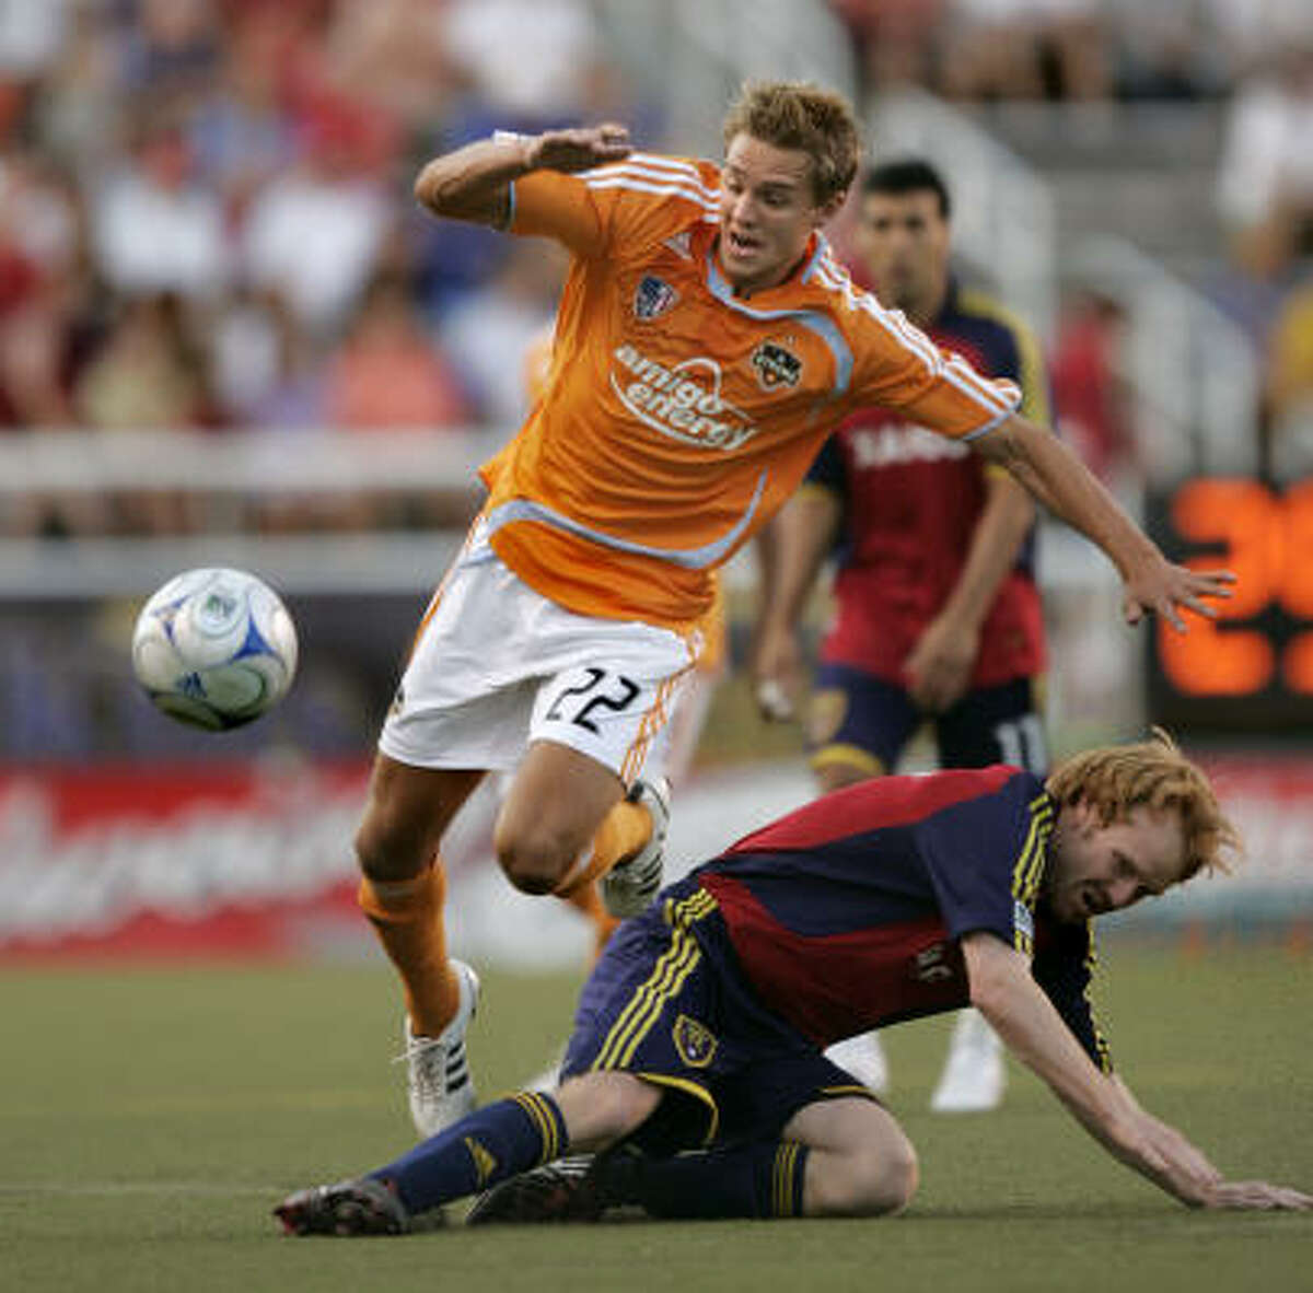
M1060 806L1086 803L1102 826L1124 820L1132 809L1180 815L1186 843L1180 880L1200 870L1230 870L1228 857L1243 852L1239 832L1217 802L1208 777L1161 727L1149 740L1087 750L1060 764L1045 782Z

